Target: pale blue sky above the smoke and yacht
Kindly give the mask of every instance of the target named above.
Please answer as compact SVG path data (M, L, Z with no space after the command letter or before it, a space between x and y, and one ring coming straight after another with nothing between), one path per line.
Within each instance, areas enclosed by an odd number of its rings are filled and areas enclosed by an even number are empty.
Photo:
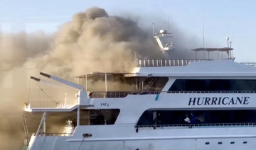
M188 39L201 42L202 47L203 33L206 47L227 47L229 37L236 62L256 62L256 1L252 0L2 0L0 29L3 33L54 33L75 13L93 6L104 8L110 16L134 18L148 28L152 23L168 28L170 22L170 30L178 28Z

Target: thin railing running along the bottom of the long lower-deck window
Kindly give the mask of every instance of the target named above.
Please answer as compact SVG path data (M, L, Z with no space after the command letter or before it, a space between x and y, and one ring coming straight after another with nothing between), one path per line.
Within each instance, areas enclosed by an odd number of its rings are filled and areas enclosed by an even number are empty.
M248 123L199 123L175 125L137 125L138 129L165 129L165 128L200 128L200 127L256 127L256 122Z

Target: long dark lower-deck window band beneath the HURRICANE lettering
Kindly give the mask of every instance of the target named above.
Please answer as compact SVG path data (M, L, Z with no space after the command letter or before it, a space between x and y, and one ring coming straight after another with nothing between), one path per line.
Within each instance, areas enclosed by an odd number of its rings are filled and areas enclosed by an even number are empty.
M146 110L137 125L255 123L256 110ZM186 120L186 118L188 118Z

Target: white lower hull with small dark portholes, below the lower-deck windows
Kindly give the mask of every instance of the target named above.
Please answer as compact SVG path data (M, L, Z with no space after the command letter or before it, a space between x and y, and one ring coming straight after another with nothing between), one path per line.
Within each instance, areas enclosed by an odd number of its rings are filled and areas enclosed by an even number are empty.
M80 126L70 137L33 136L28 150L240 150L256 146L256 127L175 127L139 129L136 132L132 125L100 126ZM92 137L82 137L87 132Z

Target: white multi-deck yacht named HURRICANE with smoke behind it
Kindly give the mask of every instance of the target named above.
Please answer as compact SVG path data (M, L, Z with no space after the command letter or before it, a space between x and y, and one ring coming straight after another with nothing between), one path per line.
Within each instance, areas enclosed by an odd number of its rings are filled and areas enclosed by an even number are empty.
M161 44L165 36L161 30L156 42L173 50ZM84 74L78 83L41 72L78 93L75 104L56 108L26 102L24 111L41 121L29 135L24 117L24 143L28 150L255 149L256 67L234 62L232 50L193 50L208 59L137 59L131 72ZM218 59L210 59L213 51Z

